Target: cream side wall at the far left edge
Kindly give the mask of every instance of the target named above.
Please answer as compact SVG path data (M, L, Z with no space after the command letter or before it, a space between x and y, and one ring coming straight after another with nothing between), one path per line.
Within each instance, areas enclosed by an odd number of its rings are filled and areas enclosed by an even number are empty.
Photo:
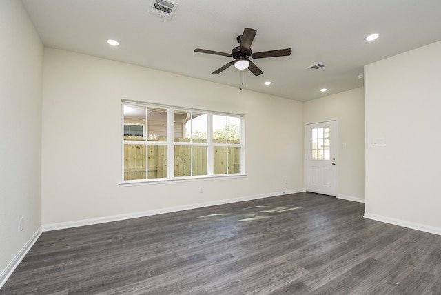
M0 1L0 40L1 286L3 271L41 225L43 45L21 1Z

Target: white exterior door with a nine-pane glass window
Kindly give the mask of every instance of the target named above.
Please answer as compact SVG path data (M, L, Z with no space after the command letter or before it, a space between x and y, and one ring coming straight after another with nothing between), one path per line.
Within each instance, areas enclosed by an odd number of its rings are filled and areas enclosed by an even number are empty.
M336 121L306 125L307 192L337 196L336 135Z

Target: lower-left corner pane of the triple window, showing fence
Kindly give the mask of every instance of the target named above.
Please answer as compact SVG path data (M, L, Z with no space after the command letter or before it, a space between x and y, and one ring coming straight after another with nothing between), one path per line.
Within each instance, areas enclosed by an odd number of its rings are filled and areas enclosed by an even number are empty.
M145 179L145 145L124 145L124 180Z

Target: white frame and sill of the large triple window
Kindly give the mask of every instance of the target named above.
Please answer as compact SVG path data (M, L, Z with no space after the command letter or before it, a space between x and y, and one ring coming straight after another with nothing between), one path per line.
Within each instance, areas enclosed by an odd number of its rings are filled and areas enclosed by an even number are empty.
M132 105L136 107L143 108L161 108L167 110L167 141L130 141L124 139L124 105ZM245 116L242 114L232 114L225 112L213 112L209 110L198 110L190 108L181 108L172 105L158 105L154 103L142 103L138 101L127 101L123 100L121 103L121 113L122 113L122 123L121 123L121 183L119 185L140 185L140 184L150 184L150 183L163 183L166 181L176 182L176 181L193 181L201 180L207 178L225 178L225 177L243 177L245 174ZM207 143L193 143L193 142L174 142L174 111L178 112L195 112L198 114L207 114ZM220 116L232 116L240 119L240 143L213 143L213 128L212 119L213 115ZM135 124L130 124L135 125ZM147 130L145 130L147 132ZM146 179L134 179L134 180L124 180L124 145L125 144L141 144L146 145L167 145L167 177L161 179L147 179L148 173L146 171ZM196 175L196 176L174 176L174 146L175 145L189 145L189 146L206 146L207 147L207 175ZM240 172L232 174L214 174L214 147L215 146L225 146L240 148ZM146 170L148 170L148 165L146 165ZM227 170L228 171L228 170Z

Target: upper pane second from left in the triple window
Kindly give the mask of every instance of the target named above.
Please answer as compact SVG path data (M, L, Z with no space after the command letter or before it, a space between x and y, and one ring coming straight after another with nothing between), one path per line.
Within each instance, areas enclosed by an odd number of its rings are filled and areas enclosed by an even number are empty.
M167 141L167 110L147 108L147 140Z

